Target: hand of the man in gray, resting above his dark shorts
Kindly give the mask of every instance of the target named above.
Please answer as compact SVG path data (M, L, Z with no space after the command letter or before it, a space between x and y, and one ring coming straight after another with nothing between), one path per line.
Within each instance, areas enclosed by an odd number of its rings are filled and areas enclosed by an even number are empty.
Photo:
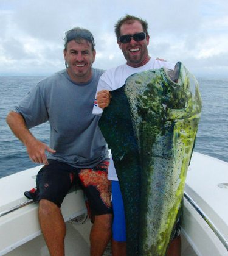
M45 151L50 153L55 153L54 149L49 148L46 144L38 141L34 138L34 140L30 141L26 144L27 153L34 163L44 163L44 165L48 165L47 157Z

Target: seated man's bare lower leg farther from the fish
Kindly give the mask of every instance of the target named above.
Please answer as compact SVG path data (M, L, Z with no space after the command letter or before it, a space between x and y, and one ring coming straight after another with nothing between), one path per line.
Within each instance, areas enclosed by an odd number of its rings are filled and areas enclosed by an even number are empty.
M64 256L66 226L60 208L53 202L41 199L39 220L51 256Z

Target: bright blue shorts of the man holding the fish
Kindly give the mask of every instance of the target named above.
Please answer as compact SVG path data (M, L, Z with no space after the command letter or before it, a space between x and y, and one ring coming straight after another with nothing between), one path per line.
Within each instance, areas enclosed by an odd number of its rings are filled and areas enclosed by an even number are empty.
M114 213L114 219L112 223L112 238L115 241L126 241L126 224L125 224L125 212L123 207L123 198L120 191L120 185L118 181L112 180L112 207ZM176 223L176 227L171 234L171 240L177 238L180 234L181 222L182 222L182 210L183 202L179 212L179 219Z

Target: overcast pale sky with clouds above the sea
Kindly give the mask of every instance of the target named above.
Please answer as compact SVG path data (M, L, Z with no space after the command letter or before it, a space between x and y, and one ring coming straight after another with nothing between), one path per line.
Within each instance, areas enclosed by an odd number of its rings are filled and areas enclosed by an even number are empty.
M227 0L0 0L0 76L47 76L64 68L64 33L91 30L94 67L125 62L114 24L148 21L151 57L181 61L195 76L228 77Z

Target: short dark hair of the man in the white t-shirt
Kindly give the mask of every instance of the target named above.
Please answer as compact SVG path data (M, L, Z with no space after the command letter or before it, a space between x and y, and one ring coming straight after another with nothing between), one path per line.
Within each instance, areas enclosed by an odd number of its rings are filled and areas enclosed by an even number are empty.
M147 35L148 35L148 23L146 20L142 20L141 18L139 17L136 17L136 16L132 16L132 15L129 15L129 14L126 14L123 18L120 18L116 25L115 25L115 34L116 34L116 38L118 39L120 37L120 27L123 25L123 24L132 24L134 23L135 21L139 21L139 23L142 24L142 28L143 28L143 32L145 32Z

